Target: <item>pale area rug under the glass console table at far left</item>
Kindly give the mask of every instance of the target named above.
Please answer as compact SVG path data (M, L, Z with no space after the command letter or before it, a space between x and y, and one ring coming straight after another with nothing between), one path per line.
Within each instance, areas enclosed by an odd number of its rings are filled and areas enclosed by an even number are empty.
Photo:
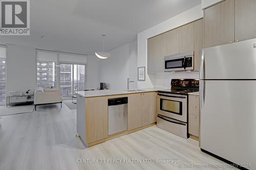
M20 113L31 113L34 111L34 105L24 105L24 106L0 106L0 116L6 116L11 114Z

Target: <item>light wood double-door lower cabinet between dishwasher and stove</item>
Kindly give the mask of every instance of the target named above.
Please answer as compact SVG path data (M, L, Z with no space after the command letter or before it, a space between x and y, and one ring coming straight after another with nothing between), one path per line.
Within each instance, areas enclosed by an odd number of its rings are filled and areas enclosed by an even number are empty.
M128 130L156 122L156 92L129 94Z

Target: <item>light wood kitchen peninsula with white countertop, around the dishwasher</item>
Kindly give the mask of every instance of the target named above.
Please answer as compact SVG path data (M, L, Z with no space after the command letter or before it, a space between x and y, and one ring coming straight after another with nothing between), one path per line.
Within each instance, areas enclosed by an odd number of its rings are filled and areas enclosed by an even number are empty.
M156 122L156 91L140 90L93 90L77 92L77 135L88 146L129 134L150 126ZM126 98L127 128L124 131L109 134L109 99Z

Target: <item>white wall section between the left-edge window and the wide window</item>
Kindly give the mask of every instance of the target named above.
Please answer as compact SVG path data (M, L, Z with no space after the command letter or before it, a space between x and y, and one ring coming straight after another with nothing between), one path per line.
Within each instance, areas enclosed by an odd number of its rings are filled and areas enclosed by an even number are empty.
M36 88L35 49L7 45L6 92L27 91Z

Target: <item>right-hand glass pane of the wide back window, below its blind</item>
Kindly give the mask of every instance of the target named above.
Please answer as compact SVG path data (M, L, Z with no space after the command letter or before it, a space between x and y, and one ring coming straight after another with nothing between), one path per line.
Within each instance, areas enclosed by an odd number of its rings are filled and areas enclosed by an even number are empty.
M85 65L60 63L60 90L62 96L71 96L85 89Z

